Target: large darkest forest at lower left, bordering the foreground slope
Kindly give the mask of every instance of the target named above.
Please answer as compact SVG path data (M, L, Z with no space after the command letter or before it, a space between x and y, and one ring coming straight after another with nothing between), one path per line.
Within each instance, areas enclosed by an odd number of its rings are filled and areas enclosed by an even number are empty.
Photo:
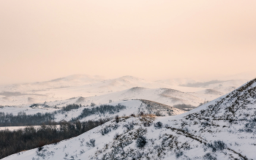
M67 140L89 131L103 123L110 121L110 118L99 119L99 121L86 121L75 123L60 122L56 125L42 125L39 128L28 126L25 129L15 131L0 131L0 159L20 151L33 148L41 149L43 145L56 144L61 140ZM91 140L89 140L91 142Z

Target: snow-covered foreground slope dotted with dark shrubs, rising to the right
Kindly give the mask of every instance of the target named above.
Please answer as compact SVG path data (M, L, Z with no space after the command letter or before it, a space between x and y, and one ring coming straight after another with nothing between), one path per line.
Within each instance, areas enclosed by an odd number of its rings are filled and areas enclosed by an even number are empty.
M256 159L256 79L181 115L122 117L41 149L4 160Z

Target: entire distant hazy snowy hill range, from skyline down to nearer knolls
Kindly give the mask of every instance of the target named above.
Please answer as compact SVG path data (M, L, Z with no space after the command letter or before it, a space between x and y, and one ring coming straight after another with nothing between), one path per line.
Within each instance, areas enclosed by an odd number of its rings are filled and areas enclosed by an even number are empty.
M71 75L39 83L4 85L0 88L0 105L24 106L83 97L94 103L123 99L147 99L162 104L192 104L211 101L227 94L248 80L192 79L148 81L124 76L105 80L99 76ZM83 101L85 103L85 101Z

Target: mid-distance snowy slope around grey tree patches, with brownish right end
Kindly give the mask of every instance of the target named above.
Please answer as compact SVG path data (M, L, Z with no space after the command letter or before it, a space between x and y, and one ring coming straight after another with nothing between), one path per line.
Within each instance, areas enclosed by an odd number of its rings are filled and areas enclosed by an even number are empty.
M67 99L64 102L61 103L61 106L65 107L67 104L75 104L78 102L78 99ZM73 109L69 111L62 111L62 107L58 106L57 107L50 107L48 104L53 104L53 103L45 103L45 104L40 104L35 107L1 107L0 108L0 113L12 113L12 115L18 115L18 113L26 113L26 115L34 115L37 113L54 113L54 121L59 122L62 120L65 121L71 121L72 118L78 118L78 116L83 113L83 110L85 108L91 109L90 105L83 105L79 107L78 109ZM80 104L80 103L78 103ZM108 105L116 106L118 104L126 106L124 110L120 110L118 113L110 114L110 113L105 113L105 114L93 114L89 115L86 118L80 119L80 121L89 121L89 120L98 120L99 118L107 118L107 117L115 117L116 115L122 116L122 115L131 115L135 114L138 115L139 113L159 113L161 115L179 115L182 113L185 113L184 110L179 110L175 107L170 107L165 104L157 103L157 102L152 102L148 100L127 100L127 101L118 101L118 102L111 102L111 103L105 103ZM148 107L148 104L150 104L150 107ZM99 105L95 105L94 107L99 107Z

